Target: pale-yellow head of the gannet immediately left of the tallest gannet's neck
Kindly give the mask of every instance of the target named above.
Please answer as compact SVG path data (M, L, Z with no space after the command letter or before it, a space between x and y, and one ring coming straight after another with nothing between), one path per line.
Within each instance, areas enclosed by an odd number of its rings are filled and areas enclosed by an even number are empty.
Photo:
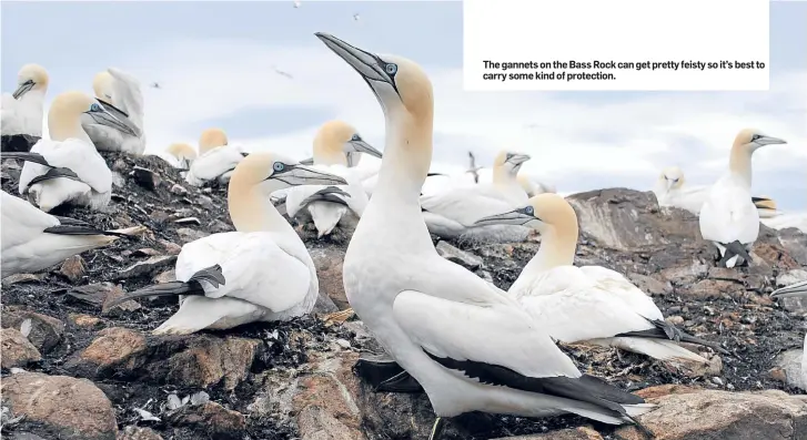
M355 127L343 121L329 121L316 132L314 137L314 160L316 163L334 164L331 157L345 157L349 167L359 164L361 155L366 153L382 157L379 150L362 140ZM342 161L340 161L342 162Z

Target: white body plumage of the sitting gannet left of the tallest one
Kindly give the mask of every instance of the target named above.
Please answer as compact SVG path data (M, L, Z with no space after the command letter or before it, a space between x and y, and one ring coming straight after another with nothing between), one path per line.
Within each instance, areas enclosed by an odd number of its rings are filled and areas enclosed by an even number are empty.
M225 283L218 288L203 284L208 298L228 296L282 311L300 304L311 286L309 267L268 233L221 233L185 244L176 259L176 279L188 282L216 264Z

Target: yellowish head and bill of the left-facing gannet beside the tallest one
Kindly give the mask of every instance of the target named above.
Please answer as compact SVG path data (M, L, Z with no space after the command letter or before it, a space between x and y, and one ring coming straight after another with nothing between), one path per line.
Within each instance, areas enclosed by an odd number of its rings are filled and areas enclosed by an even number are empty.
M547 228L556 226L574 225L577 227L577 214L562 196L555 193L543 193L529 198L526 206L508 213L483 217L474 223L474 226L484 225L528 226L543 233Z

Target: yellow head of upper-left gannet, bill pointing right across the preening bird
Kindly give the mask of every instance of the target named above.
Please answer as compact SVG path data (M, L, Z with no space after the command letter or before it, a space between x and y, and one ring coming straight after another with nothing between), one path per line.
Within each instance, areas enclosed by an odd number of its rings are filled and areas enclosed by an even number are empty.
M83 92L64 92L57 95L50 104L48 112L48 131L54 141L64 141L69 137L84 139L85 133L81 125L105 125L134 135L132 129L112 115L97 100Z

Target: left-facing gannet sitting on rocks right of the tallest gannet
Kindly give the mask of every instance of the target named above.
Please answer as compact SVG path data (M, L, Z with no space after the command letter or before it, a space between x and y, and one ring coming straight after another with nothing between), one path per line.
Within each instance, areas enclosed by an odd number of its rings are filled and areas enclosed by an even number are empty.
M539 194L525 206L477 224L525 225L541 233L538 253L507 293L553 338L618 347L663 360L708 362L675 341L716 345L666 323L653 299L627 278L602 266L574 266L577 215L562 196Z

